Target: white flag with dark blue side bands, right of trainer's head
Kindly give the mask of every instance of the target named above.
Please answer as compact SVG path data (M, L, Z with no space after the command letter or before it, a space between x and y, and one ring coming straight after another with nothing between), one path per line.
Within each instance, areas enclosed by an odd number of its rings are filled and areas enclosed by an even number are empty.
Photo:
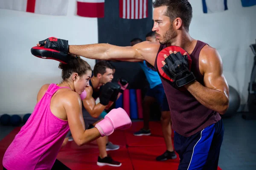
M227 0L203 0L204 13L215 13L227 10Z

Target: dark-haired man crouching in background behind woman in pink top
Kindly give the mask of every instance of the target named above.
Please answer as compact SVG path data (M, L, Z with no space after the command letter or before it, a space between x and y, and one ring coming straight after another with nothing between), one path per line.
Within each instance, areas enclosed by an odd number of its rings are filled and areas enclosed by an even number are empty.
M94 127L98 122L100 122L102 120L102 117L100 117L102 111L104 111L106 107L110 107L114 102L110 101L108 104L102 102L96 104L95 102L97 98L100 98L100 89L102 85L105 85L107 82L111 82L112 79L113 67L110 62L100 61L96 63L93 69L93 77L89 80L90 86L85 89L87 96L82 100L82 113L86 129L90 129L91 127ZM120 96L119 93L117 93L117 95ZM67 138L65 139L64 143L67 142L70 134L71 133L67 134ZM121 166L120 162L114 161L107 154L108 150L119 149L118 145L108 142L107 136L98 138L96 142L99 146L99 157L97 161L98 165Z

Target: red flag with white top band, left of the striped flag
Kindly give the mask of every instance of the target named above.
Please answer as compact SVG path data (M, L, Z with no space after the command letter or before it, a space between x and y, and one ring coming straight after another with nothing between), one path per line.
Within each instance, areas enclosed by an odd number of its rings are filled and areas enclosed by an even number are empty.
M81 17L104 17L105 0L76 0L77 15Z

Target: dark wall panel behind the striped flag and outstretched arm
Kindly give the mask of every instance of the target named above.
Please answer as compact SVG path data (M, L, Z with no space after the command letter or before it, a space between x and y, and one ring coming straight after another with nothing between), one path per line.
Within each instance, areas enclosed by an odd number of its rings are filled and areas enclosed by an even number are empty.
M148 0L148 18L128 20L119 17L119 1L105 1L105 16L98 18L99 43L129 46L131 39L145 40L145 34L151 31L152 0ZM116 67L114 80L124 77L130 82L129 88L143 89L148 85L143 70L136 62L111 62Z

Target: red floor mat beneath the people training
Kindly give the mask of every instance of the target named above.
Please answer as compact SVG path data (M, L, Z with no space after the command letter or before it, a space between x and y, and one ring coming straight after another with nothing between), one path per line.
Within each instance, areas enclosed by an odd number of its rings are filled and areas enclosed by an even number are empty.
M72 170L155 170L157 168L177 170L179 159L167 161L155 161L155 158L161 155L165 150L163 133L160 122L150 122L151 136L134 136L133 133L143 127L142 122L133 122L130 129L122 131L116 130L109 141L113 144L119 144L119 150L108 151L108 154L116 161L122 162L121 167L99 167L96 164L99 155L99 149L96 142L85 144L79 147L75 142L68 142L61 148L57 159L62 161ZM20 127L15 128L0 141L0 160L19 132ZM173 136L173 133L172 133ZM132 147L131 147L132 146ZM0 169L3 169L0 164ZM221 168L218 168L221 170Z

